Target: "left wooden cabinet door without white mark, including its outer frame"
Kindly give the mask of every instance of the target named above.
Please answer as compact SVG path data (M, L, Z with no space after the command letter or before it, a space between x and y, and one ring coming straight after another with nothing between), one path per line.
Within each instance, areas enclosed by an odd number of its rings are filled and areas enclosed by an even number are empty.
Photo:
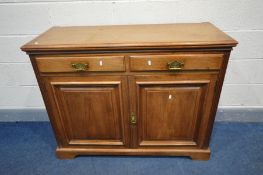
M46 87L56 111L52 117L71 146L125 146L127 83L120 76L48 77ZM127 119L128 120L128 119ZM63 146L64 146L63 145Z

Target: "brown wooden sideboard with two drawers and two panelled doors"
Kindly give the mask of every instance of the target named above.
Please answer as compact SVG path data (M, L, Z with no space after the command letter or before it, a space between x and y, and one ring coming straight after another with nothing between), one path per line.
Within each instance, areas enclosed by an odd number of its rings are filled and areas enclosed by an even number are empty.
M22 46L61 159L207 160L230 52L211 23L52 27Z

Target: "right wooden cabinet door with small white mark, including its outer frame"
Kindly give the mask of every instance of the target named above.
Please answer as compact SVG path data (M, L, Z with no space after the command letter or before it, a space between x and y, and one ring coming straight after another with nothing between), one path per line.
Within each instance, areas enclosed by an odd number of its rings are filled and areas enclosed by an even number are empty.
M130 77L131 112L137 114L133 145L202 147L216 77L190 73Z

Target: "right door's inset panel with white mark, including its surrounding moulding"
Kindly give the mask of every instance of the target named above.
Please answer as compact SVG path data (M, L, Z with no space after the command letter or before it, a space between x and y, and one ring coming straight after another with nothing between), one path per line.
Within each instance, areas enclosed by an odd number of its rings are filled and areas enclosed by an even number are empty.
M137 82L140 146L196 146L209 81Z

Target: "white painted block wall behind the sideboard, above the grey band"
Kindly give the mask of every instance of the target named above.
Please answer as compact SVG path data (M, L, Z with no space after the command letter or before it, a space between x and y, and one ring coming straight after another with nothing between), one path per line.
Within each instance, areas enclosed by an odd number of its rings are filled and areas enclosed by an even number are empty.
M263 108L263 0L0 0L0 109L44 108L20 46L54 25L212 22L238 40L220 107Z

